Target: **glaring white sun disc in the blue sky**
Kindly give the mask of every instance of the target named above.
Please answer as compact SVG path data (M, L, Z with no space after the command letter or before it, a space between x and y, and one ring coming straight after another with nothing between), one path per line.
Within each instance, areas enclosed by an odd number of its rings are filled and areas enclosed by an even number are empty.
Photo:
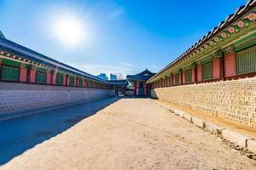
M63 16L55 20L54 34L67 46L77 46L84 41L84 26L73 16Z

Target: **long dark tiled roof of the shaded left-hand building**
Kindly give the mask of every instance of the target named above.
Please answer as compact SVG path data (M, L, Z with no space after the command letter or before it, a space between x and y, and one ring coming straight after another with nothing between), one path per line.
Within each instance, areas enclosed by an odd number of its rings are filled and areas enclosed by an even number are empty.
M0 37L0 51L6 52L9 54L13 54L13 55L22 57L24 59L29 59L34 62L38 62L42 65L48 65L52 68L57 68L59 70L71 72L78 76L89 78L89 79L95 80L97 82L108 83L107 81L104 81L101 78L92 76L89 73L80 71L79 69L76 69L72 66L66 65L64 63L61 63L60 61L49 58L49 57L45 56L44 54L39 54L38 52L33 51L32 49L21 46L20 44L12 42L3 37Z

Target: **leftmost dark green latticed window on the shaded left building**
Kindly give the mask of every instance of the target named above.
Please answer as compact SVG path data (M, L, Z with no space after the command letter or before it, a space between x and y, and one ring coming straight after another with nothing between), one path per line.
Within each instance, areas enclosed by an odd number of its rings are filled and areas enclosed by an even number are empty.
M5 81L19 81L20 69L17 67L2 65L2 80Z

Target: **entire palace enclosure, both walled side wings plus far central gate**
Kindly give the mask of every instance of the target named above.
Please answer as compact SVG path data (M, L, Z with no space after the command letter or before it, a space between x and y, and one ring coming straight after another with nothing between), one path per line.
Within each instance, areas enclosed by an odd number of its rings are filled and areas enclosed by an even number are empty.
M256 1L158 73L106 81L12 42L0 31L0 119L4 114L113 95L151 96L175 108L256 127Z

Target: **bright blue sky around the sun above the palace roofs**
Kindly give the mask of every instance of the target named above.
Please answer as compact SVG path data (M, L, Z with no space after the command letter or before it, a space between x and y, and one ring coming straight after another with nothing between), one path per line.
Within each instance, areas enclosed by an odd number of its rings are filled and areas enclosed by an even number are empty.
M91 74L160 71L246 0L0 0L8 39ZM72 15L86 34L76 47L55 37Z

